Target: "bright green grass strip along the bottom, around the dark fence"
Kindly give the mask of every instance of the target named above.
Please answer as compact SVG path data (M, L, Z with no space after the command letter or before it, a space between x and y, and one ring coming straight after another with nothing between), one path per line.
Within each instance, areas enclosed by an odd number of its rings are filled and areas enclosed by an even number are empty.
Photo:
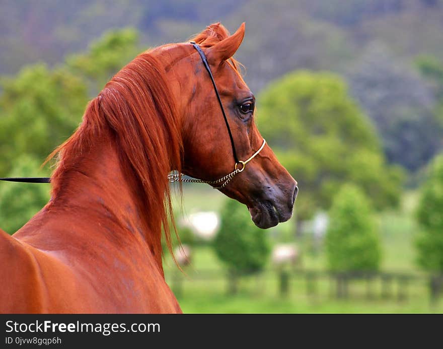
M380 280L372 284L372 299L366 298L364 281L352 282L348 300L335 298L335 282L318 278L316 292L307 292L306 278L294 272L287 296L279 294L278 273L268 268L260 275L241 279L239 293L229 295L226 272L212 249L200 247L194 261L182 274L169 263L167 280L186 313L428 313L443 312L443 300L431 307L424 276L409 282L404 299L398 299L398 283L391 285L390 298L383 299ZM414 273L420 275L418 273ZM181 287L180 287L181 283ZM404 286L401 286L404 287Z

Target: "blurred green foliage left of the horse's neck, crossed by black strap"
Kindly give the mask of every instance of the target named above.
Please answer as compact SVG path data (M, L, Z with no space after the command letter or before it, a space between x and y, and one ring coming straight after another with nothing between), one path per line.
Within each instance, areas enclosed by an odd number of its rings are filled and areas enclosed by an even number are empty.
M49 69L44 63L24 67L0 82L0 175L38 176L38 163L81 121L88 86L102 87L136 53L134 30L112 31L88 53L73 55L65 65ZM15 167L14 167L15 166ZM48 175L46 169L40 175ZM0 222L15 232L48 199L49 186L3 183Z

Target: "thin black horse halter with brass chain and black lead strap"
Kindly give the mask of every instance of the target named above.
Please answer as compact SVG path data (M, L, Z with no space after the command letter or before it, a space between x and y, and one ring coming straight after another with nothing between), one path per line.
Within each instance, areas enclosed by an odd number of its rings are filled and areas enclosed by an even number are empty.
M237 173L243 172L246 165L252 159L254 159L258 155L258 153L260 153L262 151L262 149L264 148L264 146L266 144L266 140L263 138L263 144L261 145L259 150L257 150L248 160L242 161L242 160L238 159L237 152L235 149L235 144L234 144L234 137L232 136L231 127L229 127L228 117L226 116L225 109L223 108L223 104L221 103L221 98L220 98L220 95L218 94L217 86L215 85L215 80L214 80L214 77L212 76L211 68L209 67L209 64L207 62L206 55L204 54L204 52L202 51L200 46L197 43L195 43L195 41L191 41L190 43L192 44L192 46L197 50L198 54L200 55L201 61L203 62L203 65L205 66L206 71L209 74L209 78L211 79L212 86L214 87L215 95L217 97L218 104L220 105L221 113L223 114L223 118L225 119L226 127L228 128L229 138L231 139L232 154L234 156L234 161L235 161L234 171L232 171L231 173L227 174L226 176L221 177L221 178L214 180L214 181L181 178L182 176L184 176L183 173L172 173L172 174L169 174L167 176L167 178L171 183L177 182L180 180L182 182L187 182L187 183L206 183L206 184L210 184L210 185L216 185L216 184L221 183L221 185L213 186L213 188L214 189L223 189L224 187L226 187L228 185L228 183L231 181L231 179ZM51 178L50 177L26 177L26 178L25 177L23 177L23 178L22 177L15 177L15 178L0 178L0 180L10 181L10 182L24 182L24 183L49 183L51 181Z

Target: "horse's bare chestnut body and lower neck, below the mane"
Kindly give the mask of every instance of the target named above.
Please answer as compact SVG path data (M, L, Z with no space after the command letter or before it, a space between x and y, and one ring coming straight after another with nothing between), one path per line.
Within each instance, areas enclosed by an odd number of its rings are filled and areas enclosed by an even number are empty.
M0 236L0 263L8 266L0 280L9 284L1 312L180 312L161 246L150 246L117 154L106 148L69 174L65 197L14 236Z

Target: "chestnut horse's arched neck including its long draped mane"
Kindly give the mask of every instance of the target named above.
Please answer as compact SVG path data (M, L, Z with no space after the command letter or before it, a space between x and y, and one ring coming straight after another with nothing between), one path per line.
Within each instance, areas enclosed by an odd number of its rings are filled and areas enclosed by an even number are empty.
M72 206L82 215L96 213L92 219L109 217L120 239L134 231L160 268L162 225L170 242L166 176L181 170L180 117L170 80L151 53L138 55L111 79L76 133L53 153L60 162L48 205L63 214Z

